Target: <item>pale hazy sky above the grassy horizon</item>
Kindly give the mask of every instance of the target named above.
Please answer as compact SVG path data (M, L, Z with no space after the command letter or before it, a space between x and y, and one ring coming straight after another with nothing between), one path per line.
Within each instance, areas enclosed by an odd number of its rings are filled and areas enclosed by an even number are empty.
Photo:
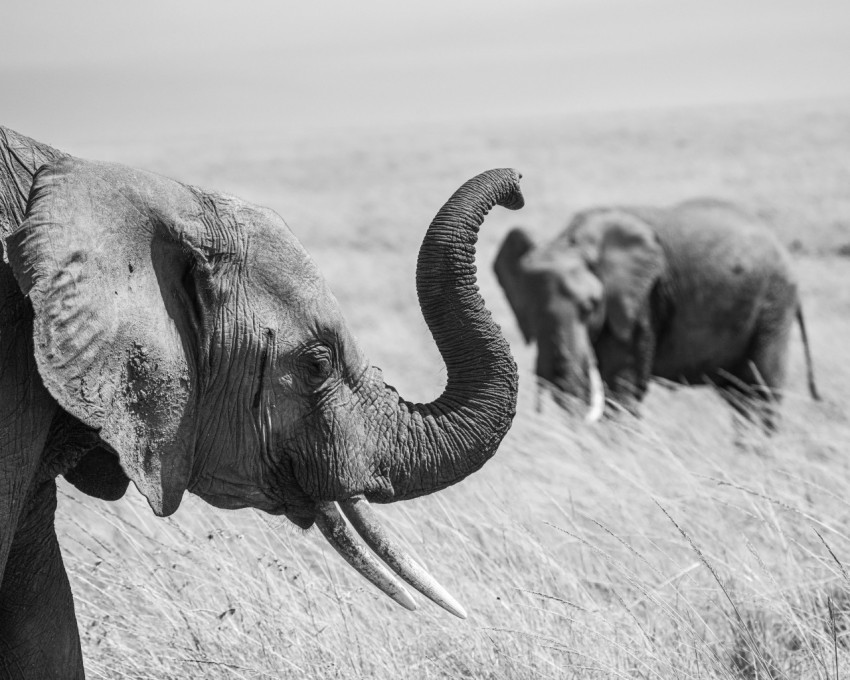
M0 124L62 147L850 97L848 0L6 0Z

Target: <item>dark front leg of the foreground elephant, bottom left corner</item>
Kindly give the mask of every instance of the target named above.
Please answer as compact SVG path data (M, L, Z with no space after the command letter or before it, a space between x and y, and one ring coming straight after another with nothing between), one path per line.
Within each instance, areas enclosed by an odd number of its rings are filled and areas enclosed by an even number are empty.
M56 482L33 487L0 585L0 678L83 678L68 575L53 526Z

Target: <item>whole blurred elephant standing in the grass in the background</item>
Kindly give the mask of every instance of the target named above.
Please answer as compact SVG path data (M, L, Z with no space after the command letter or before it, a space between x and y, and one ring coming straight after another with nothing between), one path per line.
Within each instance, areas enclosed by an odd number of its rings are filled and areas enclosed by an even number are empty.
M795 318L819 398L790 256L732 203L591 208L540 246L518 227L494 270L537 342L537 376L587 403L588 421L606 397L637 414L656 376L712 384L772 430Z

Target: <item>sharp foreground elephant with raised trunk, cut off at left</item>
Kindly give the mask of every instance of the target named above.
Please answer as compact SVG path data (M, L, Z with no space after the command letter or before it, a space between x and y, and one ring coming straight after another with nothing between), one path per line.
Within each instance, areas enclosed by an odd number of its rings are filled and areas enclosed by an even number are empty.
M519 180L474 177L428 228L416 285L447 381L411 403L275 212L0 128L0 675L84 675L58 475L107 500L132 481L159 516L190 491L315 524L399 604L398 577L465 617L370 503L455 484L510 427L516 364L474 259Z

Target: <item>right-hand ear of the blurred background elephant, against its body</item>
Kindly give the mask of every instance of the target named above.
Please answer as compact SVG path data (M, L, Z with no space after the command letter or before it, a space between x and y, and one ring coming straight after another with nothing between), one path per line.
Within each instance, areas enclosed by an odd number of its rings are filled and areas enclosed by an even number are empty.
M628 342L666 266L655 230L631 213L606 210L578 215L567 233L602 281L609 327Z

